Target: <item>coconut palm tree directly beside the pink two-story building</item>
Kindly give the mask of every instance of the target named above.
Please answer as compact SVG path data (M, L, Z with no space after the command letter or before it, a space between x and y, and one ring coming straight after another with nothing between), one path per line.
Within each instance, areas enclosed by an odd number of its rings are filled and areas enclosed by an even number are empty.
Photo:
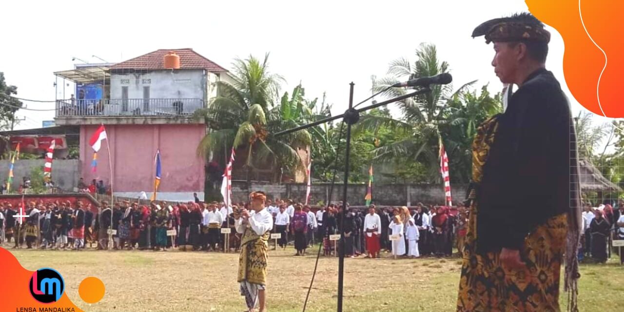
M232 78L232 84L217 82L218 96L207 109L196 112L210 129L197 147L198 154L221 162L234 147L239 152L236 159L245 162L248 181L251 170L284 170L294 175L303 168L297 149L311 144L310 133L304 130L282 137L273 134L313 117L310 104L316 100L305 100L299 85L291 97L286 92L278 101L284 79L268 71L268 54L263 62L253 56L236 59Z

